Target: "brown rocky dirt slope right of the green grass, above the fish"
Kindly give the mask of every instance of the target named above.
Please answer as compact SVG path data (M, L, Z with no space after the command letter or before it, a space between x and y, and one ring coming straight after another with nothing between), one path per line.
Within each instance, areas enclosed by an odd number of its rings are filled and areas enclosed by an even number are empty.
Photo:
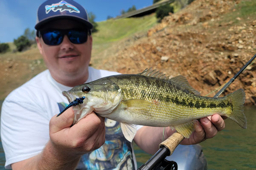
M239 3L244 1L195 0L164 18L147 36L117 45L118 52L97 68L137 74L152 67L171 77L185 76L207 95L228 82L255 53L256 17L236 17ZM256 105L255 80L253 63L224 94L243 88L246 104Z

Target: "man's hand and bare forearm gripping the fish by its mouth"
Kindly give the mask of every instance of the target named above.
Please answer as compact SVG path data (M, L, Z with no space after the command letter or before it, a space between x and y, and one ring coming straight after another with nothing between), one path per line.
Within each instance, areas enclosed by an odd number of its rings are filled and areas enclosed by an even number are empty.
M105 119L95 113L72 125L74 111L67 109L49 123L50 140L44 150L29 159L12 164L13 170L74 170L82 154L105 142Z

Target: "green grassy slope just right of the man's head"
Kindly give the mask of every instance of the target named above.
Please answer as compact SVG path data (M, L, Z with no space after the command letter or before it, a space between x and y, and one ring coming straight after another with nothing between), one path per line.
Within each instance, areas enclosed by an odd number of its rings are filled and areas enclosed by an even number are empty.
M93 33L93 65L102 61L103 57L109 57L114 53L111 47L119 41L132 38L135 34L146 34L148 29L157 24L155 14L136 18L121 18L118 20L106 20L97 23L98 32Z

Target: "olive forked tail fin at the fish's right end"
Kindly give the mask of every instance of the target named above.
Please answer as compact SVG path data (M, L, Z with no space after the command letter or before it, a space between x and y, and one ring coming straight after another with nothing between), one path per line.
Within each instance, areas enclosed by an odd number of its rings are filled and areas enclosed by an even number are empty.
M239 89L229 95L227 98L232 102L233 112L228 116L230 119L238 123L242 128L247 128L247 120L244 115L245 93L243 89Z

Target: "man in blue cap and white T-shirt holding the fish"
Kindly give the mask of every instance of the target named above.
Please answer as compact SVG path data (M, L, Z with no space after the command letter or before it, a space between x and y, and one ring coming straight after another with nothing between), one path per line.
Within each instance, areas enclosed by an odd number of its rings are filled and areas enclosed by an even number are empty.
M89 67L92 36L87 13L73 0L47 0L38 8L36 42L48 70L12 91L3 102L1 139L13 170L135 169L131 143L118 122L91 113L72 125L61 94L75 85L118 74ZM219 115L202 118L182 144L197 144L224 128ZM166 128L164 137L173 133ZM139 127L134 142L154 153L163 127ZM105 144L104 144L105 143ZM103 145L102 145L103 144ZM99 148L99 149L98 149Z

